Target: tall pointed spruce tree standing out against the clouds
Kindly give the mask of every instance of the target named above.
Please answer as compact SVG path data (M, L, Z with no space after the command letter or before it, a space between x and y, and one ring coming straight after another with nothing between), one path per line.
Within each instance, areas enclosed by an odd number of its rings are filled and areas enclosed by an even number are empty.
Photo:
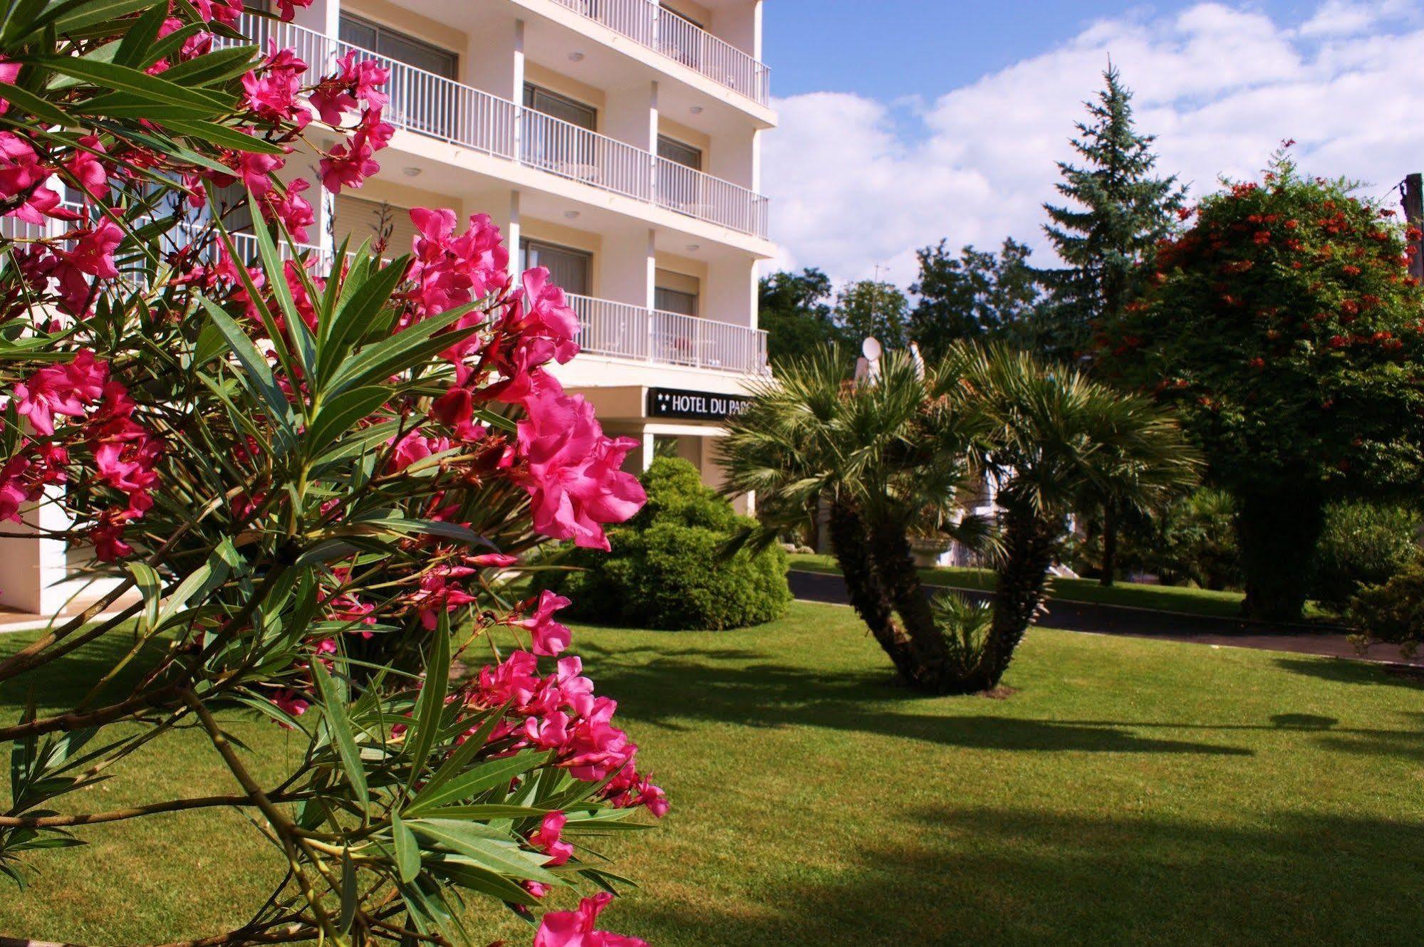
M1155 135L1136 131L1132 91L1112 64L1104 80L1098 100L1085 103L1089 121L1077 122L1072 138L1082 164L1058 162L1057 189L1069 204L1044 205L1051 221L1044 232L1067 263L1038 271L1049 293L1044 343L1062 359L1079 357L1099 328L1121 320L1142 291L1142 263L1172 232L1186 198L1176 177L1153 174Z

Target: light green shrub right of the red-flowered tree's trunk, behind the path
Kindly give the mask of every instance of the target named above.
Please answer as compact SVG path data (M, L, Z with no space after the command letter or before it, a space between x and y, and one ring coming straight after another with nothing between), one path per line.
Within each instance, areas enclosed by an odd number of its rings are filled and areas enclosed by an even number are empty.
M1340 503L1326 513L1316 547L1314 597L1343 605L1361 585L1390 581L1420 558L1424 517L1414 508L1384 503Z

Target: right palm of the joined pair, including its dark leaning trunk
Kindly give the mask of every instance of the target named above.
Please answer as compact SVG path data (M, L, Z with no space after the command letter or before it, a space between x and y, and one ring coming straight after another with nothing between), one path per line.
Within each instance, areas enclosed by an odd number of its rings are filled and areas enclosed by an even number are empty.
M983 463L998 484L1001 551L994 615L964 692L998 686L1044 605L1068 516L1104 500L1148 511L1196 480L1199 460L1169 414L1020 350L963 345L944 370L988 426Z

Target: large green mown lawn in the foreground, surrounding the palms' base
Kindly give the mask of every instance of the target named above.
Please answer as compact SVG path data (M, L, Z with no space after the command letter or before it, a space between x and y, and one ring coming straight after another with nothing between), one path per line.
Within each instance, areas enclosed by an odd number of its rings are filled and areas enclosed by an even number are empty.
M574 641L672 795L661 830L614 846L644 889L604 919L655 947L1424 943L1424 686L1377 666L1032 629L1012 696L930 699L832 605ZM19 688L0 699L19 713ZM281 731L234 726L281 768ZM218 773L189 733L94 805ZM0 894L0 933L212 933L273 870L231 813L83 834Z

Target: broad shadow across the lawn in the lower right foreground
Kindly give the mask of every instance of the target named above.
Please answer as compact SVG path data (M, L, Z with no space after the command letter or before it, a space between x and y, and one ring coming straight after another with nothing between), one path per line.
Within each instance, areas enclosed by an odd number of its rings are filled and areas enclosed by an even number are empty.
M873 819L874 815L867 817ZM1417 822L1270 815L1236 825L933 807L913 842L762 866L740 899L629 901L652 943L1420 944ZM901 833L899 837L904 837ZM695 937L689 937L689 927Z

